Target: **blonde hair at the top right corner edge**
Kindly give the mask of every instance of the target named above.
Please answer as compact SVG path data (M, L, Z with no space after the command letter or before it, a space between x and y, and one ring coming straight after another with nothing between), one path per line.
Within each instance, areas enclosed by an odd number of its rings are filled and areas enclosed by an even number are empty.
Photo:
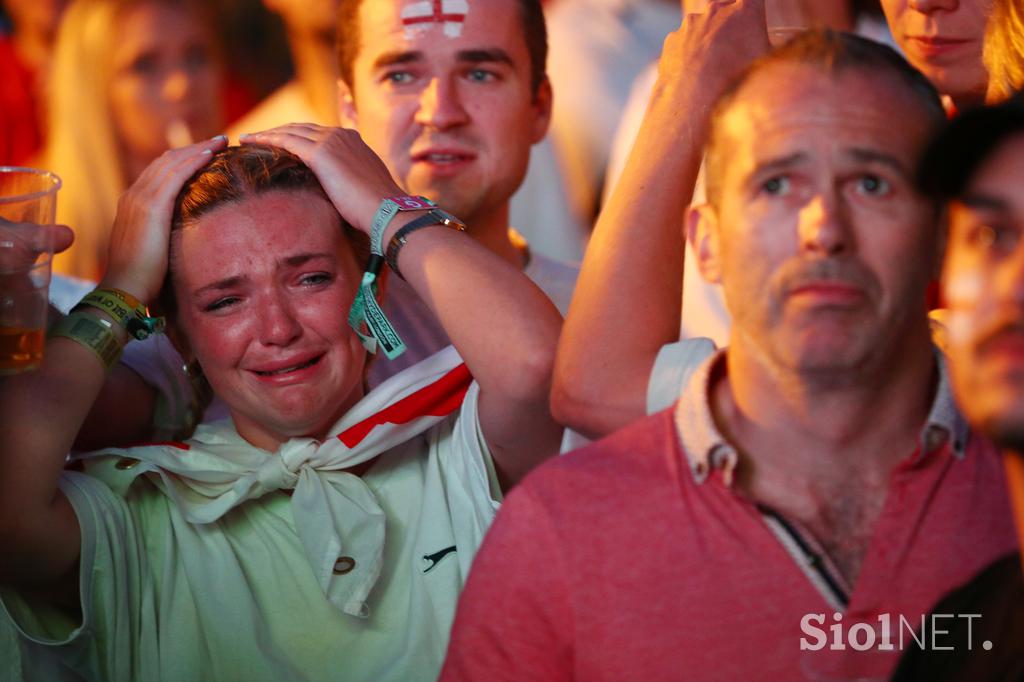
M988 100L997 102L1024 88L1024 6L995 0L985 31Z

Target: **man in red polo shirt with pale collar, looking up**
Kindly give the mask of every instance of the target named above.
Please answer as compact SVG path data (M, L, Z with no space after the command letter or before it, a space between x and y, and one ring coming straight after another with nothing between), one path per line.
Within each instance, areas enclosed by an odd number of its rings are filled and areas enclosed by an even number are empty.
M912 173L935 88L811 33L712 121L688 220L730 345L672 410L513 491L442 679L885 679L938 597L1016 545L930 338L939 213Z

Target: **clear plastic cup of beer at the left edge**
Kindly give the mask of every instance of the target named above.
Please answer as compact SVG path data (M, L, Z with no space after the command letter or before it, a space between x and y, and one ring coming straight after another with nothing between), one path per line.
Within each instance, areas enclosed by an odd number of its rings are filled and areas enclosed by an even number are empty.
M48 171L0 166L0 375L43 361L53 244L39 225L53 223L59 188Z

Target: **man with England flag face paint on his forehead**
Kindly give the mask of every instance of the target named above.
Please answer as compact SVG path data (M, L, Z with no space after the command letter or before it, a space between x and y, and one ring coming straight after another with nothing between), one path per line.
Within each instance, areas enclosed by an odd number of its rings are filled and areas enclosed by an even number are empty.
M564 314L577 269L531 252L509 226L509 202L551 118L540 1L342 0L338 48L342 124L403 189L462 218ZM376 363L371 383L449 343L398 278L385 310L411 347Z

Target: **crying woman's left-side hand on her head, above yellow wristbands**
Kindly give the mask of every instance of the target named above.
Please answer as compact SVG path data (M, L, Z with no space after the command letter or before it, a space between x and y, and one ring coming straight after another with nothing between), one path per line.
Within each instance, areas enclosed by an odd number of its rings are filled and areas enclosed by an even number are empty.
M227 138L169 150L150 164L121 196L111 231L110 261L101 287L153 303L167 273L174 201L185 181L210 163Z

